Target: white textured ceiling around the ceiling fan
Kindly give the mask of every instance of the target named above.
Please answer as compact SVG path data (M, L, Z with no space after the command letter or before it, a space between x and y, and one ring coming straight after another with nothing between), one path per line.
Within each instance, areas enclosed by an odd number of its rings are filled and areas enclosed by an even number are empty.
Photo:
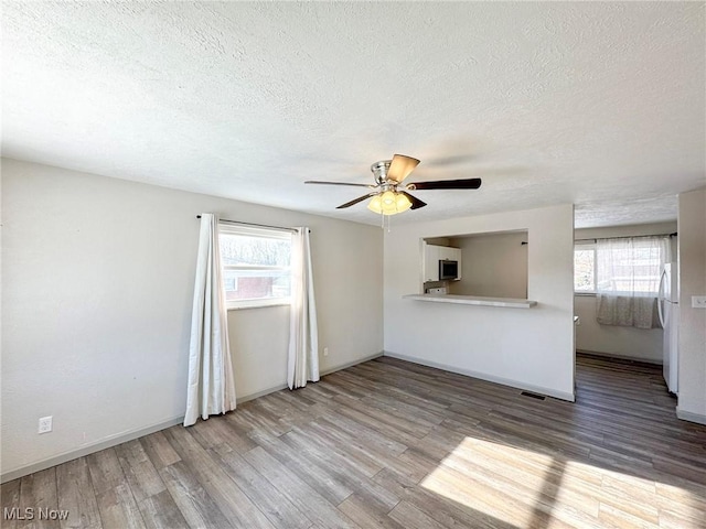
M2 2L3 155L377 224L575 203L577 227L676 218L706 185L703 2Z

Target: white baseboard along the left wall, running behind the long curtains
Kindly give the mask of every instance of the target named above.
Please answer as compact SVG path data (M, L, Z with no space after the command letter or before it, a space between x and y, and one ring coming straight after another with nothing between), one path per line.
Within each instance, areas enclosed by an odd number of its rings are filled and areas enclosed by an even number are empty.
M356 364L362 364L364 361L368 361L372 360L374 358L378 358L383 356L383 352L381 350L379 353L376 353L374 355L367 356L365 358L361 358L357 360L353 360L346 364L343 364L341 366L338 367L333 367L330 369L327 369L325 371L321 373L321 376L324 375L329 375L331 373L334 371L339 371L341 369L346 369L349 367L355 366ZM266 395L272 393L275 391L279 391L280 389L286 389L287 388L287 384L282 384L282 385L278 385L275 386L272 388L269 389L264 389L261 391L257 391L255 393L250 393L250 395L246 395L243 397L238 397L237 398L237 402L242 403L242 402L247 402L248 400L254 400L257 399L258 397L264 397ZM173 419L169 419L167 421L162 421L158 424L153 424L151 427L146 427L146 428L140 428L137 430L131 430L128 432L124 432L121 434L118 434L114 438L109 438L109 439L104 439L103 441L98 441L92 444L87 444L85 446L82 446L77 450L69 450L67 452L64 452L62 454L58 455L53 455L52 457L47 457L46 460L42 460L39 461L36 463L32 463L30 465L26 466L22 466L19 468L15 468L13 471L9 471L6 472L4 474L0 475L0 483L7 483L7 482L11 482L12 479L17 479L19 477L22 476L26 476L29 474L35 473L35 472L41 472L41 471L45 471L46 468L51 468L52 466L55 465L61 465L62 463L66 463L67 461L72 461L72 460L76 460L78 457L83 457L85 455L89 455L93 454L94 452L99 452L101 450L105 449L109 449L111 446L117 446L118 444L122 444L122 443L127 443L128 441L132 441L135 439L139 439L141 436L145 435L149 435L150 433L154 433L154 432L159 432L160 430L165 430L168 428L171 428L175 424L181 424L184 420L184 415L179 415L175 417Z

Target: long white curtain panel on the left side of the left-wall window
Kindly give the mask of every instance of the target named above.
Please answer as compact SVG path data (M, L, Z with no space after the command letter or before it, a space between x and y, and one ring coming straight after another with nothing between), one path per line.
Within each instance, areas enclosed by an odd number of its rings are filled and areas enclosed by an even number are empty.
M235 380L221 271L218 218L203 213L191 316L184 427L194 424L199 415L208 419L208 415L231 410L235 410Z

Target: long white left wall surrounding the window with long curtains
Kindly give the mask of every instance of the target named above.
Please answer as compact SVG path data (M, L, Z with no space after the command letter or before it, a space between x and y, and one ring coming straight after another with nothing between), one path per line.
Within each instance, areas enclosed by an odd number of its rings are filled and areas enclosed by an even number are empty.
M12 160L2 191L4 476L183 415L199 213L311 227L321 369L382 352L377 227ZM228 324L238 396L282 387L288 307Z

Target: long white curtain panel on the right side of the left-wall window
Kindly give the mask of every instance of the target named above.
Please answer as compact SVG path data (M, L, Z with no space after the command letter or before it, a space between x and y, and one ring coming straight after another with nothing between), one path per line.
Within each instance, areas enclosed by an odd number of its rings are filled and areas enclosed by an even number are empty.
M309 228L297 228L291 239L291 309L289 314L289 389L319 380L317 304L313 298Z

